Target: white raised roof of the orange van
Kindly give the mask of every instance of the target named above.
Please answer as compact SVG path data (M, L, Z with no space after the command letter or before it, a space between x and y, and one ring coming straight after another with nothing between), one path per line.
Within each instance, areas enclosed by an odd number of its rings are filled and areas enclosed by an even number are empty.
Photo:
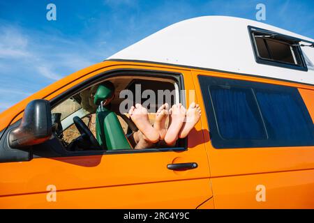
M170 63L314 84L314 48L301 47L307 71L260 64L255 61L248 26L314 42L311 38L253 20L204 16L167 26L108 59Z

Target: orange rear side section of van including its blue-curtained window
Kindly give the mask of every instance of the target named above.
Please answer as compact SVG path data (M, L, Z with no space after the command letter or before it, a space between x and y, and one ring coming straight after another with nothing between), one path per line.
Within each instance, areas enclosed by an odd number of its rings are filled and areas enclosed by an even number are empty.
M193 79L211 132L215 208L314 208L313 87L220 72Z

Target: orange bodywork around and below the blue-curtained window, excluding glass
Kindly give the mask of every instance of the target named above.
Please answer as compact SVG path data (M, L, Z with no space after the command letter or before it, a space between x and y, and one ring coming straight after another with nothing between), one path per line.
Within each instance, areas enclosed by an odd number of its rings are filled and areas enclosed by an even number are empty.
M198 75L285 83L220 72L193 71L197 99L204 111L202 128L211 170L214 207L314 208L314 146L214 148L209 138L208 117L204 107L209 102L202 100ZM293 86L291 83L287 85ZM299 84L295 86L301 87ZM303 96L308 98L309 93L304 92ZM313 111L309 112L313 114ZM266 201L261 197L264 190Z

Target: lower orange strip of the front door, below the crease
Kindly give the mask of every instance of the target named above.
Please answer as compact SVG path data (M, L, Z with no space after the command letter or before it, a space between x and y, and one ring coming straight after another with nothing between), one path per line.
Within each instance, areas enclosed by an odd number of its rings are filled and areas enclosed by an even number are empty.
M55 202L47 201L47 192L32 193L0 197L0 204L1 208L197 208L209 196L204 185L208 187L208 178L57 191Z

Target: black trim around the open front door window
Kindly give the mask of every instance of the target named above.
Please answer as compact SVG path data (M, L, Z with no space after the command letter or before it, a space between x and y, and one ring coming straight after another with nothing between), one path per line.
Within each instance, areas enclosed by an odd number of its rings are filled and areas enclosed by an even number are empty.
M73 86L71 89L64 91L60 95L57 95L56 98L50 100L50 105L52 108L60 105L64 100L72 97L73 95L79 93L80 91L88 88L91 85L97 84L99 82L104 82L106 79L110 79L112 77L122 77L122 76L130 76L136 74L136 77L160 77L172 79L177 83L179 88L179 100L185 105L186 99L183 91L184 90L184 77L181 72L169 72L169 71L158 71L158 70L146 70L146 69L117 69L117 70L109 70L105 72L100 72L98 75L91 77L87 80L84 80L77 86ZM168 151L188 151L188 143L187 139L182 139L183 147L167 147L167 148L144 148L144 149L117 149L117 150L107 150L107 151L66 151L64 148L60 148L60 144L56 141L57 139L50 139L51 146L47 146L50 144L50 141L46 141L45 146L41 146L42 150L34 149L33 150L33 158L41 158L41 157L72 157L72 156L86 156L86 155L114 155L114 154L128 154L128 153L156 153L156 152L168 152ZM58 145L59 144L59 145ZM41 144L40 144L41 145ZM37 145L35 147L40 147Z

